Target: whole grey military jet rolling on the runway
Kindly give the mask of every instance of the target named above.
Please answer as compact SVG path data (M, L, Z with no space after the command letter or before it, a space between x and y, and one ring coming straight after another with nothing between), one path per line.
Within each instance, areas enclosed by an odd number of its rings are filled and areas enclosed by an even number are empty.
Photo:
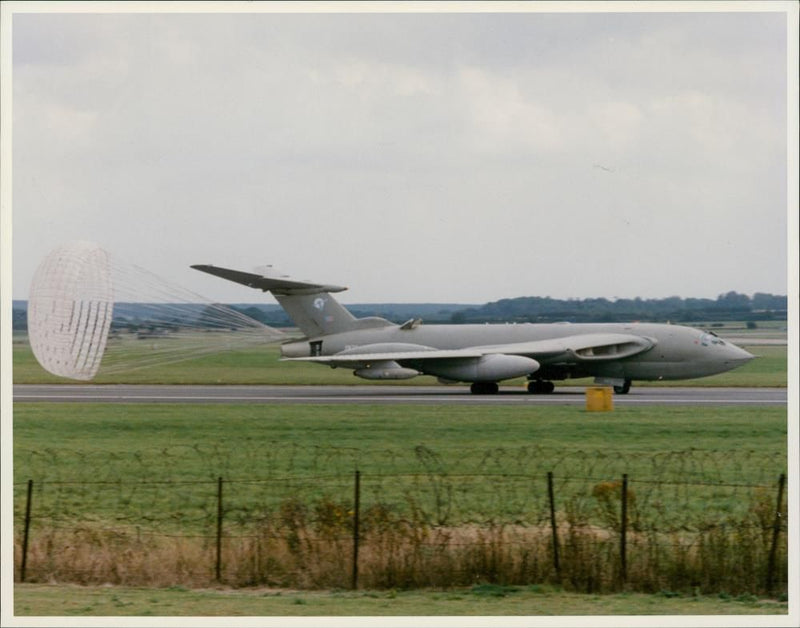
M248 273L210 265L197 270L271 292L305 337L281 346L281 359L352 369L369 380L433 375L469 382L475 394L526 376L528 391L549 393L553 381L594 377L626 394L633 380L703 377L729 371L753 355L712 332L654 323L398 325L355 318L331 293L342 286L297 281L271 266Z

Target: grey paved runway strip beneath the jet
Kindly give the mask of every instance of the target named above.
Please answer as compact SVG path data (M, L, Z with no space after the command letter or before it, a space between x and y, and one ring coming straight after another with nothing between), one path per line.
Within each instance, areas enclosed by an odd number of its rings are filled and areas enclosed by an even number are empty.
M84 403L271 403L585 405L584 387L557 387L549 395L501 388L473 395L466 386L132 386L16 385L14 402ZM786 388L647 388L614 395L617 406L785 406Z

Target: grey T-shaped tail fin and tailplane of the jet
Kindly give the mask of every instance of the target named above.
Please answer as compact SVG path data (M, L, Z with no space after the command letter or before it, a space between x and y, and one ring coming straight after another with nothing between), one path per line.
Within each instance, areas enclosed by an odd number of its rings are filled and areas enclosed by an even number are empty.
M206 264L197 264L192 268L264 292L271 292L289 318L309 338L360 327L359 319L330 294L347 290L343 286L297 281L280 274L271 266L258 267L255 273Z

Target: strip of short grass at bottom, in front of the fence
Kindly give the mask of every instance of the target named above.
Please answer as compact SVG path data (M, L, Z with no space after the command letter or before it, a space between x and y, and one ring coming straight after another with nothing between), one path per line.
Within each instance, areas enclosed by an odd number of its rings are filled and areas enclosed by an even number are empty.
M18 584L18 616L786 615L751 595L580 595L546 586L447 591L189 590Z

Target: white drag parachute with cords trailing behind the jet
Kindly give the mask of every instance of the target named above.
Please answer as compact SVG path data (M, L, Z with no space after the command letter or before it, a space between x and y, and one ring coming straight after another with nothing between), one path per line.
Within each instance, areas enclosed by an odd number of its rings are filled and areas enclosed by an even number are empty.
M76 380L286 338L91 242L60 246L39 265L28 300L28 336L45 370Z

